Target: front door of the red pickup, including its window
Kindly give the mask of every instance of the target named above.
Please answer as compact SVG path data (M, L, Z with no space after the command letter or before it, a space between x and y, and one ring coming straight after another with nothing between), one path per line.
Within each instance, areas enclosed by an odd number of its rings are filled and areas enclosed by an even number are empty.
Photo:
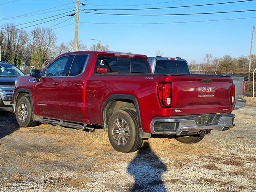
M46 117L61 118L60 85L67 74L74 56L63 56L55 60L42 75L34 87L34 108L36 114Z

